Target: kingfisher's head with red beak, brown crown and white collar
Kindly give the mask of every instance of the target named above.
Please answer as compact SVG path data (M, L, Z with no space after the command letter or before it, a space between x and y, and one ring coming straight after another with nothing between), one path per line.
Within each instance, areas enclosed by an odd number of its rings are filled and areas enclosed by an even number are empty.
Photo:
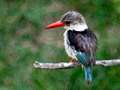
M52 23L45 27L45 29L55 28L55 27L64 27L69 30L83 31L87 28L84 17L75 11L69 11L65 13L60 21Z

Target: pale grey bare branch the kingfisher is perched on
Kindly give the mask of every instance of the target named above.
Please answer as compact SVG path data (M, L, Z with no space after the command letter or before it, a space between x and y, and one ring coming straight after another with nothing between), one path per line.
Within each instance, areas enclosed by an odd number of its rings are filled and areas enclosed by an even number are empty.
M35 68L41 68L41 69L67 69L67 68L74 68L81 66L81 63L79 61L75 61L74 64L71 62L41 63L36 61L33 65ZM96 61L96 65L102 65L102 66L120 65L120 59Z

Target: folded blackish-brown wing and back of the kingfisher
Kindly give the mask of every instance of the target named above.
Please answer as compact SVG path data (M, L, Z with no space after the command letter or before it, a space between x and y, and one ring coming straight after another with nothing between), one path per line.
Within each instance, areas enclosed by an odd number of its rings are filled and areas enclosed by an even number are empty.
M77 52L85 53L88 64L95 64L95 53L97 49L97 37L90 29L85 31L68 31L68 39L70 45L75 48Z

